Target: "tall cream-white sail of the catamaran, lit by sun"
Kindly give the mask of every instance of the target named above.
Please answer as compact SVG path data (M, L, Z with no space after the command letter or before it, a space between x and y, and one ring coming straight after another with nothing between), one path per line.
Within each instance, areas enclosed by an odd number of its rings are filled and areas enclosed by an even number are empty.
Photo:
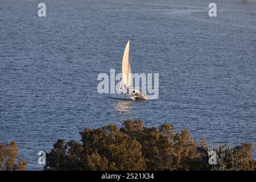
M131 86L131 66L129 63L129 49L130 40L127 42L125 51L123 52L122 83L125 88L129 88Z

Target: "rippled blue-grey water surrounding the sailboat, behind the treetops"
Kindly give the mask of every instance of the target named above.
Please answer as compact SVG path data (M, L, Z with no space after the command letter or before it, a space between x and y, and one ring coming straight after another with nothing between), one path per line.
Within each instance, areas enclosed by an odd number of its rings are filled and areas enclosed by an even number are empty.
M255 146L256 2L214 2L216 18L199 0L0 0L0 142L15 139L28 169L57 139L127 118ZM99 73L121 72L129 38L132 71L159 73L158 100L97 92Z

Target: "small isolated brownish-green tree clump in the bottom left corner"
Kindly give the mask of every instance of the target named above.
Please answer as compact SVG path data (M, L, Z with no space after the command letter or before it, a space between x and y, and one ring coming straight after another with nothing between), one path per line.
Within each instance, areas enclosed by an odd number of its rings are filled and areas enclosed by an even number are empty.
M0 171L25 171L27 163L23 158L15 164L18 154L18 145L15 141L5 146L0 143Z

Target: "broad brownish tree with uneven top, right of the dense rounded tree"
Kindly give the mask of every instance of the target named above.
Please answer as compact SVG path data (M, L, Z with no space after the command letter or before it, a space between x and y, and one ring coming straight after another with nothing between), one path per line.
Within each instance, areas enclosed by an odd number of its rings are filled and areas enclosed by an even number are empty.
M123 123L121 131L141 143L148 170L190 169L189 163L199 156L196 141L190 138L189 131L175 134L170 123L147 128L142 121L128 120Z

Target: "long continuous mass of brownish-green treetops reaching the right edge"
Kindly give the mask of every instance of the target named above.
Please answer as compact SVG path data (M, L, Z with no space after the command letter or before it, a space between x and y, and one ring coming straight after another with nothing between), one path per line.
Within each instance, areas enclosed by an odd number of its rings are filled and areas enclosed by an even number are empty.
M174 126L144 127L142 121L125 121L118 129L108 125L85 128L81 143L58 140L47 154L45 170L254 170L251 143L217 147L217 165L208 163L208 144L201 146L189 131L174 133Z

